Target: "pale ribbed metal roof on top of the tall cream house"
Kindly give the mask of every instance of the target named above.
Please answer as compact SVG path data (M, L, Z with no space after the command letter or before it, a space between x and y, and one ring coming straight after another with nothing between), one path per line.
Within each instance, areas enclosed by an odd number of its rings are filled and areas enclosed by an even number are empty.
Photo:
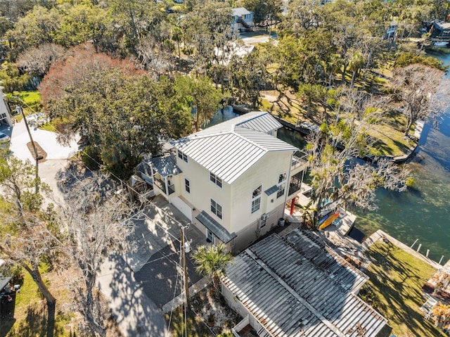
M174 145L188 158L232 184L267 152L298 151L267 133L278 127L280 123L269 113L255 111L191 134Z

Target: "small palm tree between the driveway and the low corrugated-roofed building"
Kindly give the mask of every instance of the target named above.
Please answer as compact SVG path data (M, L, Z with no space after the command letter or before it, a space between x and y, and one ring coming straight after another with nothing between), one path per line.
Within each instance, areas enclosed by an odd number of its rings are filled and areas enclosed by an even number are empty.
M233 262L233 255L226 252L224 243L219 243L217 246L198 246L193 253L193 259L197 265L197 272L210 277L214 288L218 289L220 276L225 274L226 266Z

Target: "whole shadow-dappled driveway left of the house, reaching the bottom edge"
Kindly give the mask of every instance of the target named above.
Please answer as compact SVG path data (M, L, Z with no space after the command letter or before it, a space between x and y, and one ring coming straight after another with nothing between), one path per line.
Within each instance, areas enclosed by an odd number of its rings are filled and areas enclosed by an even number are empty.
M181 292L179 223L186 225L188 219L162 197L152 203L134 220L134 234L127 238L136 249L123 257L108 257L98 276L98 286L124 336L170 336L162 308L171 307ZM192 225L185 235L193 239L192 248L205 241ZM189 285L193 285L201 276L190 260L187 265Z

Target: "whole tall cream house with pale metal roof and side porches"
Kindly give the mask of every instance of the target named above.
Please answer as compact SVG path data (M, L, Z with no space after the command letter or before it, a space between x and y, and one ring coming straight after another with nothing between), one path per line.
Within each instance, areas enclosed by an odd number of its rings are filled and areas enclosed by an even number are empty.
M300 191L307 163L276 138L282 125L269 113L246 113L174 142L172 153L143 160L153 184L205 233L236 253L273 229L288 198Z

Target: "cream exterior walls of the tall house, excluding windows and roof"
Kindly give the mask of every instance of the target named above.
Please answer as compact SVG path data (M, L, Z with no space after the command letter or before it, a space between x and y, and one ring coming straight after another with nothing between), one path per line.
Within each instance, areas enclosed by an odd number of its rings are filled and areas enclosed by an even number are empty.
M230 234L236 233L233 250L242 250L248 247L259 236L266 234L278 224L283 217L285 196L289 189L289 170L293 153L290 151L269 152L257 164L239 177L236 182L229 185L222 182L222 188L210 181L210 172L203 166L188 158L188 163L177 158L177 165L183 172L176 185L176 196L181 196L186 203L176 197L172 203L176 205L200 230L206 230L195 221L195 216L205 210L224 227ZM285 194L279 198L276 192L267 196L264 191L278 184L279 174L285 173ZM187 193L184 179L188 179L191 193ZM252 213L252 192L262 185L261 205L259 210ZM179 191L179 192L178 192ZM211 212L210 199L214 199L222 206L222 219ZM273 202L272 202L273 200ZM187 208L191 205L191 210ZM195 208L195 210L193 210ZM188 214L191 213L191 216ZM261 217L268 214L264 227L260 227ZM200 228L201 227L201 228Z

